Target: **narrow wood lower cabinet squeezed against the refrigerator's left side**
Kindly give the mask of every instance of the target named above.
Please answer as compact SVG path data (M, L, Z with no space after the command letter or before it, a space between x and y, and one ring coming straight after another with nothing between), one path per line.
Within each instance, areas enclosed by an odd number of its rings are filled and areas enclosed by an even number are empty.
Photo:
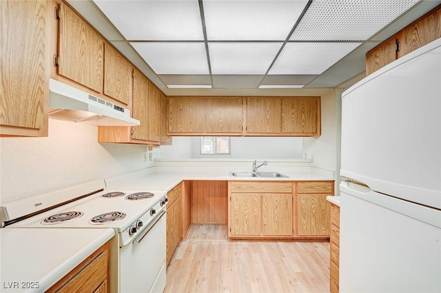
M329 288L331 293L339 290L339 267L340 267L340 207L331 203L331 239L330 239L330 270L331 276Z

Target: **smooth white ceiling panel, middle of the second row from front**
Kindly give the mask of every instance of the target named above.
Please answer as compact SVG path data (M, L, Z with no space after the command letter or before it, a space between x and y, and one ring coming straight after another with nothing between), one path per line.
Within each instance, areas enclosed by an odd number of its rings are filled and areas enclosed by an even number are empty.
M265 74L283 43L208 43L212 74Z

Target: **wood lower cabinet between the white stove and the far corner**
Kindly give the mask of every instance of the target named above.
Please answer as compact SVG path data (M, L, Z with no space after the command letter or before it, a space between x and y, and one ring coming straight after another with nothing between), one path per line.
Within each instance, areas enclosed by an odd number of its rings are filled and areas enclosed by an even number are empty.
M179 241L183 238L182 183L167 192L167 247L166 260L169 265Z

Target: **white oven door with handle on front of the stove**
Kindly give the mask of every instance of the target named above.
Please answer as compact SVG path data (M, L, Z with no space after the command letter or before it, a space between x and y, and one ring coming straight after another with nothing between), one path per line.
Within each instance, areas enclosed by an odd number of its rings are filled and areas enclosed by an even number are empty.
M165 210L120 249L120 289L123 293L162 293L165 288Z

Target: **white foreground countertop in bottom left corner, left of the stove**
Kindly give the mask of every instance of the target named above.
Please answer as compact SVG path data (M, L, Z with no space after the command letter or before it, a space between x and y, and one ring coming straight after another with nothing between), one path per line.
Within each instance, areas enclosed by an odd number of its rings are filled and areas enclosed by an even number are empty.
M44 292L113 236L112 229L1 228L0 291Z

